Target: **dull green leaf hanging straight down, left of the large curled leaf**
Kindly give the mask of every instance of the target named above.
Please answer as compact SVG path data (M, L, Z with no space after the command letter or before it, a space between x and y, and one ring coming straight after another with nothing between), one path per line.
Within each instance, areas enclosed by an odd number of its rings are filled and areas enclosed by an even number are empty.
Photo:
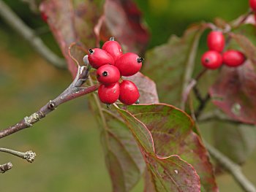
M111 177L113 192L130 191L145 169L138 144L120 116L91 96L90 105L100 125L105 161Z

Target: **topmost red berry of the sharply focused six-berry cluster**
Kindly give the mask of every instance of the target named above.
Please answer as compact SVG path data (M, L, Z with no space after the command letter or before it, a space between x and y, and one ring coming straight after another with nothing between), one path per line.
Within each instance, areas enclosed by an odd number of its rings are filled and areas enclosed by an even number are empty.
M104 43L104 45L102 46L102 50L107 51L113 57L114 61L116 61L116 59L123 55L121 45L113 40L112 37L108 42Z

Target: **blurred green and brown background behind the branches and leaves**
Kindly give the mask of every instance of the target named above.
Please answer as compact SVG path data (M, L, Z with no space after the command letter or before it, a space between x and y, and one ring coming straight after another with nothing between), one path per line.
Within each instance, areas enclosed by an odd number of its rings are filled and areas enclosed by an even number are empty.
M22 1L5 1L45 43L60 51L39 15ZM151 31L148 47L165 43L170 34L181 36L191 23L216 17L233 20L248 9L247 1L136 0ZM39 110L69 85L69 72L48 64L0 18L0 128ZM0 153L0 164L12 161L10 172L0 175L1 191L111 191L99 130L86 97L61 105L32 128L0 140L1 147L34 150L33 164ZM256 185L256 153L243 166ZM220 191L241 191L228 174L217 179ZM140 182L133 192L143 191Z

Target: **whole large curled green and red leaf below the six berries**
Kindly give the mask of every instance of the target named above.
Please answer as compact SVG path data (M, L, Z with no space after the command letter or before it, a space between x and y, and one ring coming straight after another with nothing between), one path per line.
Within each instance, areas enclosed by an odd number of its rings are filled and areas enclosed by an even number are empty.
M167 104L132 105L118 112L140 146L147 178L153 179L146 191L218 191L207 150L188 115Z

